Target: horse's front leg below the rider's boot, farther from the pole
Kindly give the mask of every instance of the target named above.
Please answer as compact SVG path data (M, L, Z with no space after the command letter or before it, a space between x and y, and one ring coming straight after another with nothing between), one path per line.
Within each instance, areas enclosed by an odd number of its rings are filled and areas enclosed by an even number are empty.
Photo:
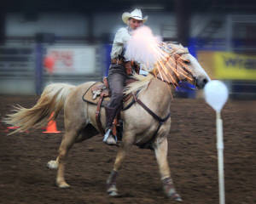
M125 139L128 138L128 139ZM124 138L123 138L123 142L119 147L117 156L115 158L114 164L113 164L113 170L110 173L108 180L107 180L107 192L108 195L110 196L117 196L118 194L118 190L116 188L116 179L118 176L118 171L120 169L120 167L122 166L122 163L125 159L125 156L128 152L128 150L131 148L132 145L132 141L131 141L131 137L125 137L124 134Z

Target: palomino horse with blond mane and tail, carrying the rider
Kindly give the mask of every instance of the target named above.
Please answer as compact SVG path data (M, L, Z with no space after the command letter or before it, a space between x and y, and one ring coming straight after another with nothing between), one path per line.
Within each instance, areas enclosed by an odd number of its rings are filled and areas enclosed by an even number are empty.
M118 195L116 179L119 168L125 159L132 144L143 145L150 143L154 150L156 160L160 168L160 178L163 182L164 192L168 197L176 201L182 201L177 194L171 178L171 172L167 161L167 135L171 129L170 108L172 101L172 90L174 84L169 77L182 81L187 73L190 81L193 81L197 88L203 88L210 80L207 73L201 68L197 60L189 54L188 50L182 46L172 46L172 54L169 61L176 63L176 71L169 71L165 77L148 74L148 76L137 76L137 82L131 83L125 94L137 93L136 102L125 111L121 112L123 119L123 137L113 170L107 180L107 192L109 195ZM171 63L171 61L170 61ZM186 68L185 66L186 65ZM154 71L153 71L154 72ZM52 112L55 119L58 113L64 108L65 134L59 148L59 155L55 161L49 161L48 167L57 168L56 184L60 188L67 188L64 178L65 161L68 150L74 143L90 139L95 136L99 128L96 123L96 105L86 103L82 100L84 92L90 88L94 82L85 82L79 86L65 83L52 83L44 88L44 92L36 105L31 109L21 106L15 108L15 113L7 116L6 122L20 127L16 131L25 131L31 127L42 127L48 122ZM143 105L141 103L143 102ZM146 108L145 108L146 107ZM149 113L154 112L154 116ZM105 126L105 110L101 109L101 121Z

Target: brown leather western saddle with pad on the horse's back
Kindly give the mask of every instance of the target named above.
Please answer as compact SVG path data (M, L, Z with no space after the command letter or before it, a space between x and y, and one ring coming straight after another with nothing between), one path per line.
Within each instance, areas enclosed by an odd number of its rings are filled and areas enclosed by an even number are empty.
M125 81L125 86L130 84L131 82L135 82L135 79L127 79ZM108 105L108 101L110 100L111 92L110 89L108 88L108 80L107 77L103 78L103 82L95 82L93 83L90 88L86 90L86 92L83 95L83 100L96 105L96 123L97 126L99 127L100 133L102 135L105 134L105 131L102 127L102 122L101 122L101 108L105 107ZM126 95L123 98L123 110L126 110L131 107L131 105L134 103L132 100L131 94ZM121 111L121 110L120 110ZM113 120L113 128L112 128L112 133L113 135L117 136L118 139L121 139L121 135L119 134L122 132L122 124L120 119L120 111L118 111L117 115L115 116Z

